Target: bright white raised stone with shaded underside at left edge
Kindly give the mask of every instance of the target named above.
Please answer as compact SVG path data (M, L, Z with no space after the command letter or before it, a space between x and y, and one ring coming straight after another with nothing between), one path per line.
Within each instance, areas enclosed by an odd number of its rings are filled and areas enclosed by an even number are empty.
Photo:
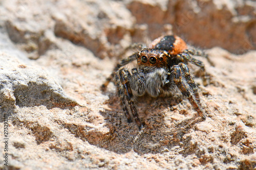
M4 37L3 35L1 37ZM11 115L16 106L30 107L45 105L48 108L70 107L78 103L62 91L61 86L42 68L19 60L25 58L22 52L4 48L8 41L0 40L0 112ZM9 42L9 45L12 44ZM18 53L18 54L17 54ZM20 57L22 56L22 57Z

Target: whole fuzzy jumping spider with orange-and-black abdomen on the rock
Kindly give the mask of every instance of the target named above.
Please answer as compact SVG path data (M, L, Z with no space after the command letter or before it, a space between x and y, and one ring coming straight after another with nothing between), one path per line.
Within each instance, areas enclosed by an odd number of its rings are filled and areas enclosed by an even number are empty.
M197 86L186 63L190 62L204 70L204 64L193 56L204 56L200 50L187 50L186 43L176 35L162 36L155 39L147 48L121 60L113 73L101 86L106 89L109 82L115 78L117 93L129 123L131 114L139 129L142 128L135 98L145 93L153 97L160 94L172 94L179 89L186 96L197 113L205 119ZM122 67L137 60L137 67L131 71Z

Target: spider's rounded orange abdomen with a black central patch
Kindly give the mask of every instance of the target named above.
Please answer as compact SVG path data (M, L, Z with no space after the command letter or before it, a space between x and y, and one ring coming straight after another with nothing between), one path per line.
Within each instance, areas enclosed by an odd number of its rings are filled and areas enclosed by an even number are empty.
M183 39L176 35L161 36L155 39L149 48L164 50L171 56L182 53L187 49L187 45Z

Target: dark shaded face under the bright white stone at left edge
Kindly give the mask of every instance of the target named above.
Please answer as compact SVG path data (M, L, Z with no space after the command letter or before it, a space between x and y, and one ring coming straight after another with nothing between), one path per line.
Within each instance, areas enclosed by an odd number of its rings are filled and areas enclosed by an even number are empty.
M47 109L71 109L75 106L80 106L75 100L63 94L62 89L52 88L49 84L29 82L27 85L16 85L13 89L13 92L12 90L8 91L7 88L2 90L3 97L0 99L0 123L17 112L16 106L34 107L44 105Z

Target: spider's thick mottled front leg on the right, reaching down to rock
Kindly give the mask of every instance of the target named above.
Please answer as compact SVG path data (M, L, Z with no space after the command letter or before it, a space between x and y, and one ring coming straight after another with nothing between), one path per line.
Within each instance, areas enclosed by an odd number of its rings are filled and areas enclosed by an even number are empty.
M194 107L197 113L205 119L205 114L201 108L200 98L194 80L190 76L189 68L184 63L174 65L171 68L174 75L174 82L180 89L181 93L187 97L190 104Z

